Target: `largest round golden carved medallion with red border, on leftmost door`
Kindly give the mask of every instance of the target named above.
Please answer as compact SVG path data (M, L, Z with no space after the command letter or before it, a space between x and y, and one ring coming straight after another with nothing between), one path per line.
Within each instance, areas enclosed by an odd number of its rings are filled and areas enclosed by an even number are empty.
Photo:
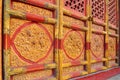
M41 24L27 22L16 29L11 46L22 60L37 63L50 53L52 37Z

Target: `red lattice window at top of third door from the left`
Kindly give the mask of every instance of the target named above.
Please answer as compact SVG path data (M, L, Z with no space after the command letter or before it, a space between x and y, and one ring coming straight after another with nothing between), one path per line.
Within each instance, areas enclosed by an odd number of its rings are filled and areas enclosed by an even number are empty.
M94 18L105 20L105 0L92 0L92 15Z

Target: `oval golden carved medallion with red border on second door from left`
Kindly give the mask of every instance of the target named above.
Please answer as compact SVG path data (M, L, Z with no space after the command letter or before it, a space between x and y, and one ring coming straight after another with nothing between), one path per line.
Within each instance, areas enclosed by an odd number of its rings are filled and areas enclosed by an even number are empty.
M79 58L84 50L84 41L80 32L70 30L63 39L63 50L68 58Z

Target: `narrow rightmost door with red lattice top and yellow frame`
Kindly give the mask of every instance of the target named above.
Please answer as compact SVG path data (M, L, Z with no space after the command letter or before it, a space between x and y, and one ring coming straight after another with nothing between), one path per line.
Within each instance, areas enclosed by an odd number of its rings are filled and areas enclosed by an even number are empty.
M119 60L118 1L108 0L108 60L109 67L114 67Z

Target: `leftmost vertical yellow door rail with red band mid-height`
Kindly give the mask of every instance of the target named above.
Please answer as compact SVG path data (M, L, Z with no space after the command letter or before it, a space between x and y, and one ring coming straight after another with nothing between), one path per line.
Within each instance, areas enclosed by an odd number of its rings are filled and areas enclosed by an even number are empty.
M4 2L4 27L3 27L3 37L4 37L4 80L10 80L9 68L10 68L10 46L9 46L9 25L10 25L10 15L7 9L10 9L10 0L5 0Z

